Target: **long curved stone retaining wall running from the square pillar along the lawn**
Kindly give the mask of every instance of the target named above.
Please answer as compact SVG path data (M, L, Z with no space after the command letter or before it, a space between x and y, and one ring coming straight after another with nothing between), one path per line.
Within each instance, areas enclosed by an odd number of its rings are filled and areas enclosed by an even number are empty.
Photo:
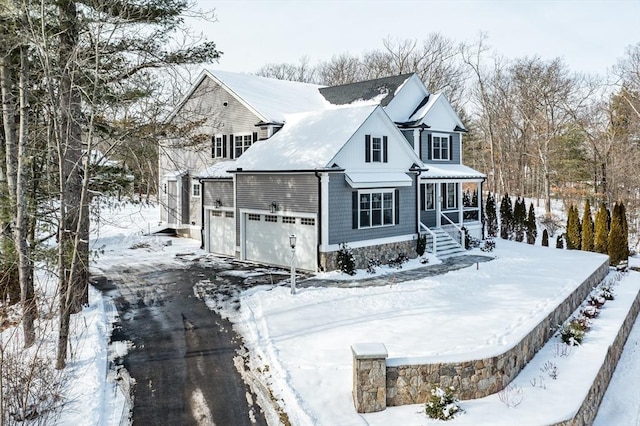
M387 406L421 404L431 389L454 386L460 399L482 398L499 392L509 384L536 352L553 335L558 324L565 322L586 299L593 287L599 284L609 271L608 260L596 269L562 303L544 318L527 336L513 348L496 357L456 363L422 365L389 365L386 368ZM391 363L393 364L393 363ZM361 377L366 377L363 372ZM354 394L362 386L354 375ZM368 385L368 384L366 384ZM366 411L373 407L362 407ZM372 410L372 411L378 411Z

